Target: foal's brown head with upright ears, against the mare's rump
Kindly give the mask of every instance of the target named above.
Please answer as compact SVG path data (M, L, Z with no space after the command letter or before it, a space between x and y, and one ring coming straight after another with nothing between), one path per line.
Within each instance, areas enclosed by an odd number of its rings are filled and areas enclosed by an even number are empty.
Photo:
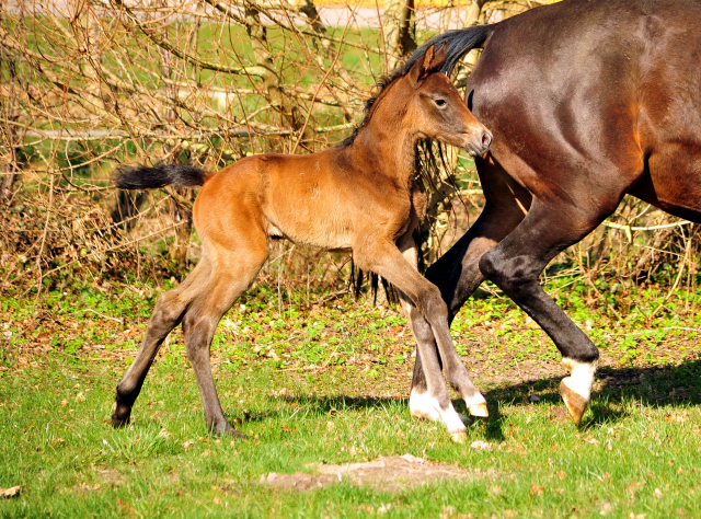
M492 134L468 109L458 89L443 72L446 46L428 48L409 70L404 81L413 88L407 118L422 138L463 148L471 155L490 149Z

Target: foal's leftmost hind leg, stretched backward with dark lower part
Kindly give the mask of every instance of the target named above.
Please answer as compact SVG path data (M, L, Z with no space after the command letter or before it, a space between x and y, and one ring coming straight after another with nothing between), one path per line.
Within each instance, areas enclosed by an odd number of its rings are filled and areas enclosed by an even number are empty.
M112 415L114 427L123 427L128 424L134 402L141 391L143 380L161 344L168 334L180 324L189 302L206 286L210 272L211 265L206 258L203 258L179 287L163 292L158 298L139 353L117 385L117 405Z

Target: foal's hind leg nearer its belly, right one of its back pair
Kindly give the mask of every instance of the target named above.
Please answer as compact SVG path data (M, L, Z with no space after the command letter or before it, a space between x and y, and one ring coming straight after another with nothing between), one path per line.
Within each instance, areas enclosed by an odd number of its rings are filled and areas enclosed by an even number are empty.
M183 316L185 347L197 379L207 430L217 435L243 436L227 422L217 395L209 365L211 339L223 314L251 286L267 256L265 234L255 244L246 243L245 249L238 246L235 253L218 249L205 290Z

